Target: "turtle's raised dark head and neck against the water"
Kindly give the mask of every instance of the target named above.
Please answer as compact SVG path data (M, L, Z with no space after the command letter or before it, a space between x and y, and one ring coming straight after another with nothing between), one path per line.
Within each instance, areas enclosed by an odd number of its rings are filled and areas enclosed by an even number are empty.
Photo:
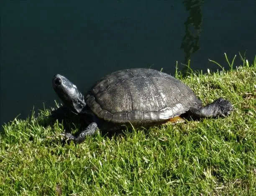
M58 97L73 113L80 113L86 106L84 95L77 86L70 82L63 75L56 74L52 78L52 86Z

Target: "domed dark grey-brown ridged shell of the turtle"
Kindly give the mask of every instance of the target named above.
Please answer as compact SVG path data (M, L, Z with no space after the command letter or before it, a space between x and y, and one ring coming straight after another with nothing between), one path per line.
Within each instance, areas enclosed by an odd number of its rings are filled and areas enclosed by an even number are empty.
M113 123L157 123L202 104L184 83L153 69L120 70L99 80L85 97L91 111Z

